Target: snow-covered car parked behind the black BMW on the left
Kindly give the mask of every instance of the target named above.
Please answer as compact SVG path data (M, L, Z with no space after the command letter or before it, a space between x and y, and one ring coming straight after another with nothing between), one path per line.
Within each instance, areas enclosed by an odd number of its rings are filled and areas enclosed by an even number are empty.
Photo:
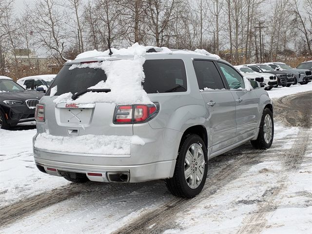
M24 77L17 80L17 83L28 90L36 90L45 92L50 87L53 79L57 75L38 75L31 77Z

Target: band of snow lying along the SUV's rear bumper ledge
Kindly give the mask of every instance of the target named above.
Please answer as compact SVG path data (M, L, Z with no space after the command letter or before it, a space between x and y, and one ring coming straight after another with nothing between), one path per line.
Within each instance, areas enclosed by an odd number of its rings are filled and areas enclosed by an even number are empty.
M130 155L132 145L144 145L138 136L105 136L83 135L78 137L60 137L41 133L35 140L39 149L62 151L70 153Z

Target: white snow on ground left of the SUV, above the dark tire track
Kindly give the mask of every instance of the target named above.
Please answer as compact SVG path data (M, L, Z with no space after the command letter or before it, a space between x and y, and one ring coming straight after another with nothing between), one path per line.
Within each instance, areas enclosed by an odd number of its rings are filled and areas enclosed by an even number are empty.
M0 208L69 183L37 169L32 149L36 131L0 129Z

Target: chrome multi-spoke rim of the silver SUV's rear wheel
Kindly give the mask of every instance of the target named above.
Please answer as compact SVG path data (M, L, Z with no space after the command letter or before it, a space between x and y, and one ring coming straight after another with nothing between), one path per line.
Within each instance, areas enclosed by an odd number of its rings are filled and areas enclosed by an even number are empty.
M184 177L191 189L196 189L203 179L205 157L201 146L192 144L187 150L184 160Z

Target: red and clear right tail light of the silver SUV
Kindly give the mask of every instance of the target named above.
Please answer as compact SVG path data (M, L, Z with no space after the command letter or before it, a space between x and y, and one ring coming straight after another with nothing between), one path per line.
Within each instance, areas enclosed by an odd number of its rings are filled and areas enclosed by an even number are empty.
M154 118L159 111L159 103L155 105L125 105L116 106L115 124L145 123Z

